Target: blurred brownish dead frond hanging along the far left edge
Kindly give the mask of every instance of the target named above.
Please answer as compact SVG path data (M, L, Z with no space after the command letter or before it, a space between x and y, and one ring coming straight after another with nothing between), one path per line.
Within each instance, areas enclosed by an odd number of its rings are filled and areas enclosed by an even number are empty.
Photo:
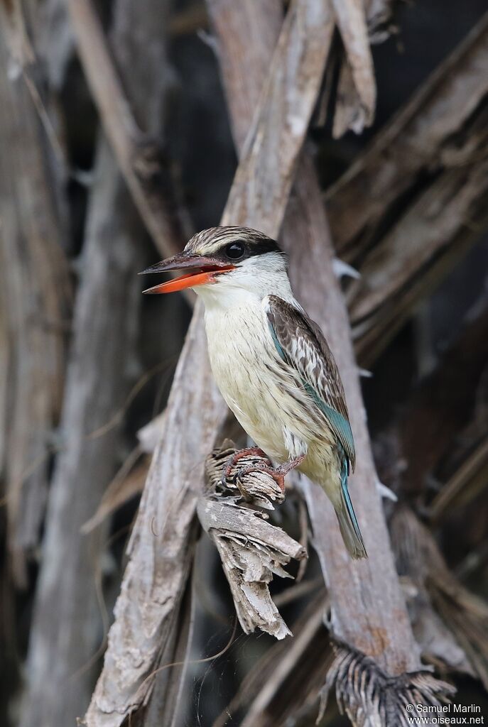
M0 466L14 577L26 585L25 558L39 544L60 413L71 284L50 191L49 142L20 61L7 49L17 36L0 17Z

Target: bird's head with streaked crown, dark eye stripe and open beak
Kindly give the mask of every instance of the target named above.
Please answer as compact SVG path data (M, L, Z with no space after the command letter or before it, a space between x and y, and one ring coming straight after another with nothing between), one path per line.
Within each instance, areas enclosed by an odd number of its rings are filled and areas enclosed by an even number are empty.
M203 297L247 292L264 297L289 286L287 259L274 240L251 228L217 227L194 235L183 252L157 262L143 273L183 275L145 293L172 293L193 288Z

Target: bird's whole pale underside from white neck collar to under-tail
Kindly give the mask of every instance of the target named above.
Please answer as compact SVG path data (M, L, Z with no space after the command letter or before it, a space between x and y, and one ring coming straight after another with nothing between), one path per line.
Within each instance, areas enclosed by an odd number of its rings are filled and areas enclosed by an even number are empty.
M306 454L300 471L340 505L335 435L299 372L281 359L269 328L270 294L300 308L280 261L265 265L251 257L217 284L196 288L205 302L210 364L223 398L257 446L276 462Z

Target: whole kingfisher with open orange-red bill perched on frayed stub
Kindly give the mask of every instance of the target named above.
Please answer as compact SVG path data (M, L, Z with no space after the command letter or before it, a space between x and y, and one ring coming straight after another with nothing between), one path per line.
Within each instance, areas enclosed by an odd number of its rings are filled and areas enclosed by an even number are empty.
M183 252L143 273L183 271L153 286L159 294L192 288L204 302L212 374L225 402L255 447L236 453L266 463L284 489L295 467L329 497L345 547L367 558L348 491L356 452L343 384L319 325L295 299L287 255L259 230L239 226L196 233Z

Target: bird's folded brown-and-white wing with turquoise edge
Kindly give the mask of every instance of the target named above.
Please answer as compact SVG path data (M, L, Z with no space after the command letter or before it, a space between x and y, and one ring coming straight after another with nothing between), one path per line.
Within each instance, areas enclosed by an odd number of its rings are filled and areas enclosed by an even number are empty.
M267 297L265 310L279 356L300 374L303 387L326 417L354 467L356 453L343 385L319 326L302 310L276 295Z

